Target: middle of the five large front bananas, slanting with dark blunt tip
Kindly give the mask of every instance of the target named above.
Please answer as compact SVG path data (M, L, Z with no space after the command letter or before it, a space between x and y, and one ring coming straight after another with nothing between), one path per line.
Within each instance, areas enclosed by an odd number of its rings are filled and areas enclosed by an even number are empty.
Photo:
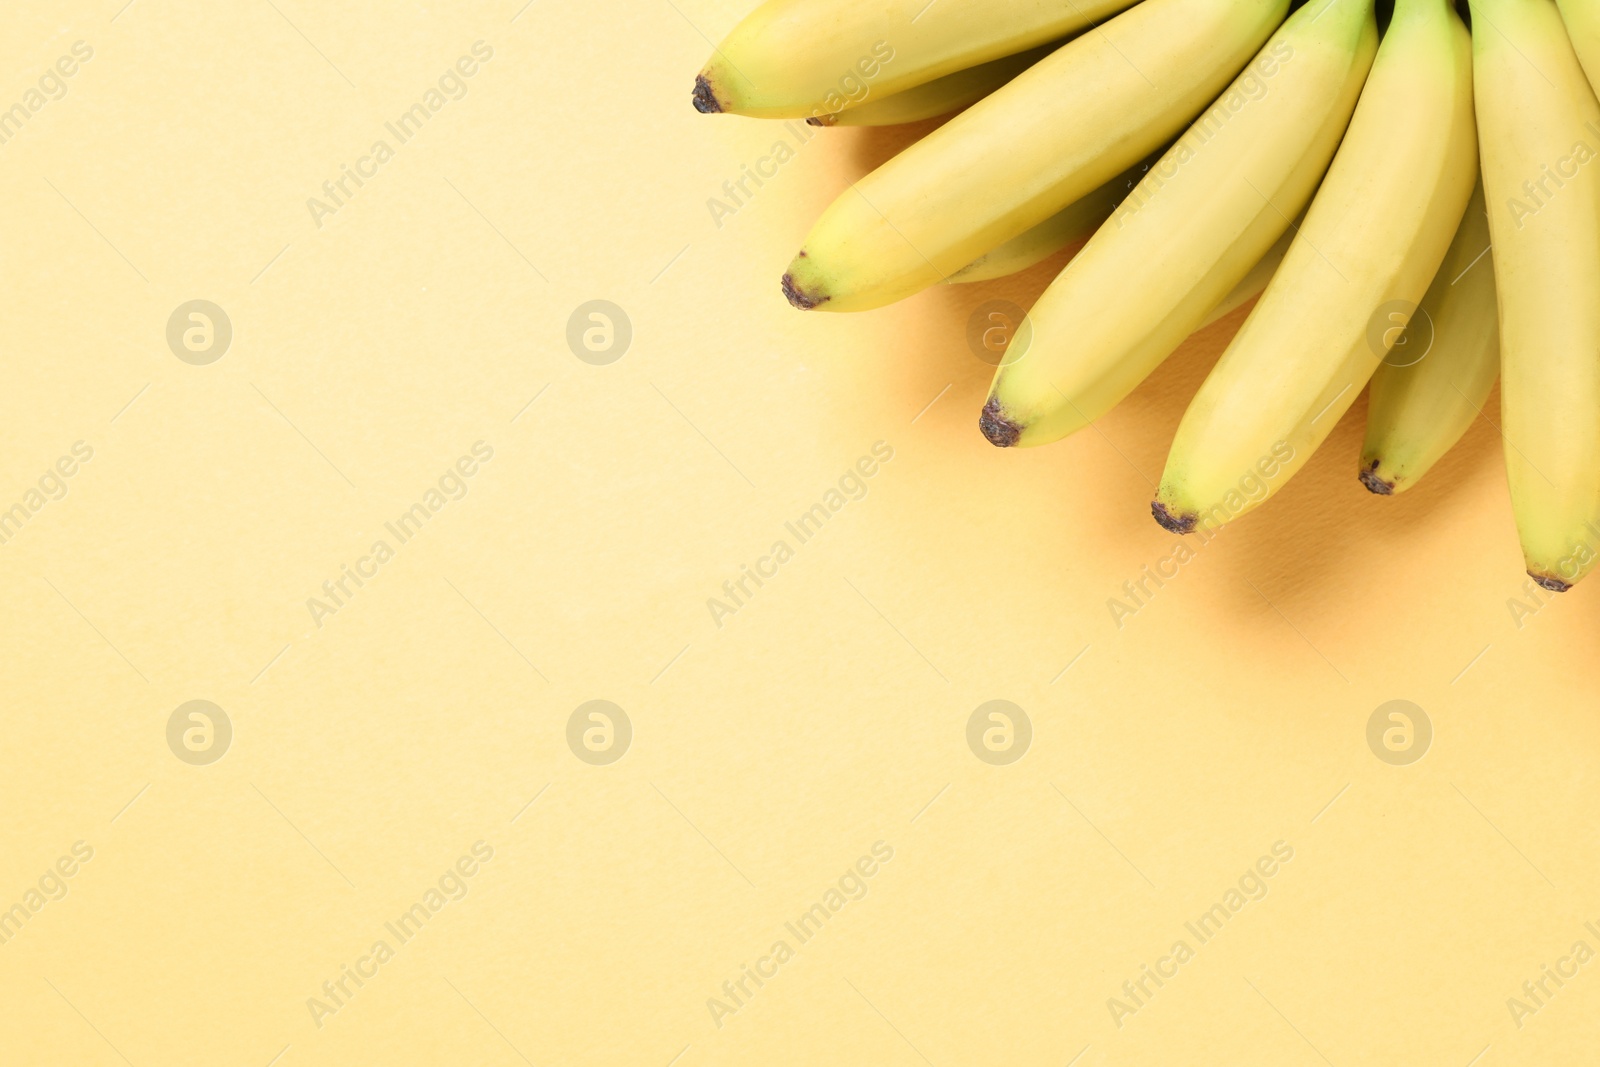
M1232 299L1315 192L1376 51L1371 0L1290 16L1038 298L1029 350L989 389L984 437L1029 446L1083 429Z

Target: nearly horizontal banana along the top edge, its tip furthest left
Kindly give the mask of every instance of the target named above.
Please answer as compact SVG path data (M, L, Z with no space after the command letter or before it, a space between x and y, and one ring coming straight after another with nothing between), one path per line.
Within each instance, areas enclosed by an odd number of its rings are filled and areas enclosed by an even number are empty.
M1134 0L766 0L694 78L694 107L832 115L1085 30Z

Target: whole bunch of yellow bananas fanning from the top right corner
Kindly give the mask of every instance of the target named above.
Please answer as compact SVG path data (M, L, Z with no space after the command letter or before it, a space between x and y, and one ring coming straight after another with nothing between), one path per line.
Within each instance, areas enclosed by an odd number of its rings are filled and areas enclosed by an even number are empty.
M693 102L821 126L960 110L822 213L782 291L864 310L1072 250L989 389L995 445L1083 429L1259 294L1178 427L1152 504L1171 531L1270 498L1368 382L1358 475L1400 493L1499 371L1528 573L1566 590L1600 560L1600 0L1467 14L766 0Z

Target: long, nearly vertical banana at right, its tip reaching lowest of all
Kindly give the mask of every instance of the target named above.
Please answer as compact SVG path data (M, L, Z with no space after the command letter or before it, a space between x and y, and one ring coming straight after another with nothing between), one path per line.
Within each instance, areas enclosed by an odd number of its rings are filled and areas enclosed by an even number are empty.
M1565 592L1600 550L1600 104L1549 0L1474 0L1472 24L1512 512Z

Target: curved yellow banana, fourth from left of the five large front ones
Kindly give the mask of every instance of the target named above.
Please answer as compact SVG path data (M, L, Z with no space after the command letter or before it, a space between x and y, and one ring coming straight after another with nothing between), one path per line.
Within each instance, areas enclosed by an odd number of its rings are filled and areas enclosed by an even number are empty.
M1310 459L1378 368L1387 312L1438 274L1477 170L1472 38L1448 0L1397 0L1306 226L1178 426L1162 526L1221 526Z

